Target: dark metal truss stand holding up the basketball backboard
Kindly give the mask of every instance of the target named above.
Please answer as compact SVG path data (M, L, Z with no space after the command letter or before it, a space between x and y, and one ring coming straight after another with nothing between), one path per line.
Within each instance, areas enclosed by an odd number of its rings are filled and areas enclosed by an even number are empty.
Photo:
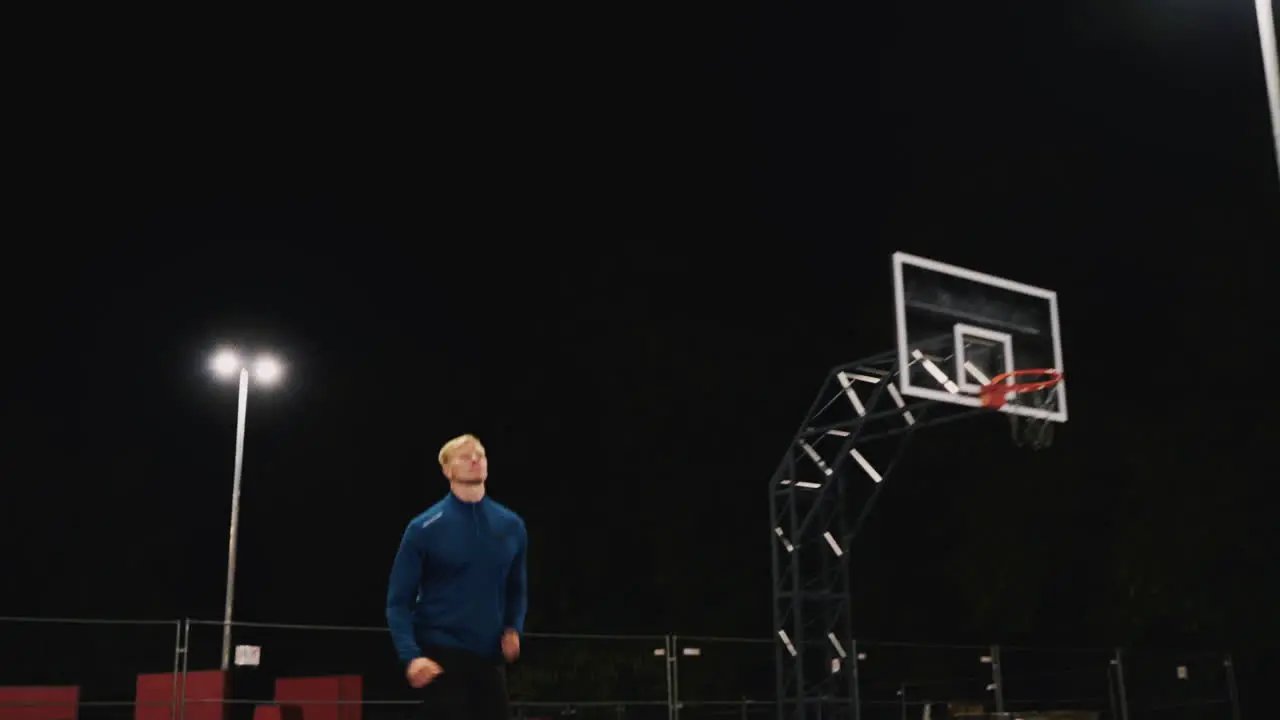
M896 351L833 368L769 483L778 720L860 720L849 550L915 430L989 413L902 397L899 372Z

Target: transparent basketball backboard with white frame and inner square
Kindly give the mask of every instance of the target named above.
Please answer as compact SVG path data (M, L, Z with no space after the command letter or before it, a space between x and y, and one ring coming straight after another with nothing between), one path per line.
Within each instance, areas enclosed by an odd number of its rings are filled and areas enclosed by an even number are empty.
M1051 290L895 252L893 296L904 396L979 407L978 391L1001 373L1065 372ZM1038 398L1010 395L1000 411L1065 423L1066 380Z

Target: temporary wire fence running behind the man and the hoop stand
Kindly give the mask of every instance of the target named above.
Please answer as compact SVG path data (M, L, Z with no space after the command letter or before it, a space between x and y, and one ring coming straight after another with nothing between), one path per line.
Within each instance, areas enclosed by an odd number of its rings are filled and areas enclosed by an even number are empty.
M526 720L765 720L776 716L776 642L529 633L508 675L513 711ZM234 623L237 662L225 676L221 646L220 621L0 618L0 720L255 720L255 708L282 705L282 692L292 693L289 707L326 708L301 720L412 712L385 628ZM858 641L856 657L847 667L856 669L858 720L1240 719L1234 662L1221 652ZM310 685L289 680L300 678L346 684L301 697Z

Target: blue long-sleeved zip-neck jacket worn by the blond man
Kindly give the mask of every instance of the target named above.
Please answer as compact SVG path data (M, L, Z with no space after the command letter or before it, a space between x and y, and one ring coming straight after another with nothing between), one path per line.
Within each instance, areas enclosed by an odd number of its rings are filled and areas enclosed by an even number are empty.
M498 502L452 492L410 521L392 565L387 624L402 662L443 646L499 657L529 609L525 521Z

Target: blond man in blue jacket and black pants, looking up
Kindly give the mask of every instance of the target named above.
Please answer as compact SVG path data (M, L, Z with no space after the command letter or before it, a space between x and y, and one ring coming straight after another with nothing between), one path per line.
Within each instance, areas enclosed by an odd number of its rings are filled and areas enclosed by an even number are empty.
M520 656L527 610L518 515L485 496L475 436L440 448L449 495L408 524L387 588L387 624L428 716L508 720L503 660Z

